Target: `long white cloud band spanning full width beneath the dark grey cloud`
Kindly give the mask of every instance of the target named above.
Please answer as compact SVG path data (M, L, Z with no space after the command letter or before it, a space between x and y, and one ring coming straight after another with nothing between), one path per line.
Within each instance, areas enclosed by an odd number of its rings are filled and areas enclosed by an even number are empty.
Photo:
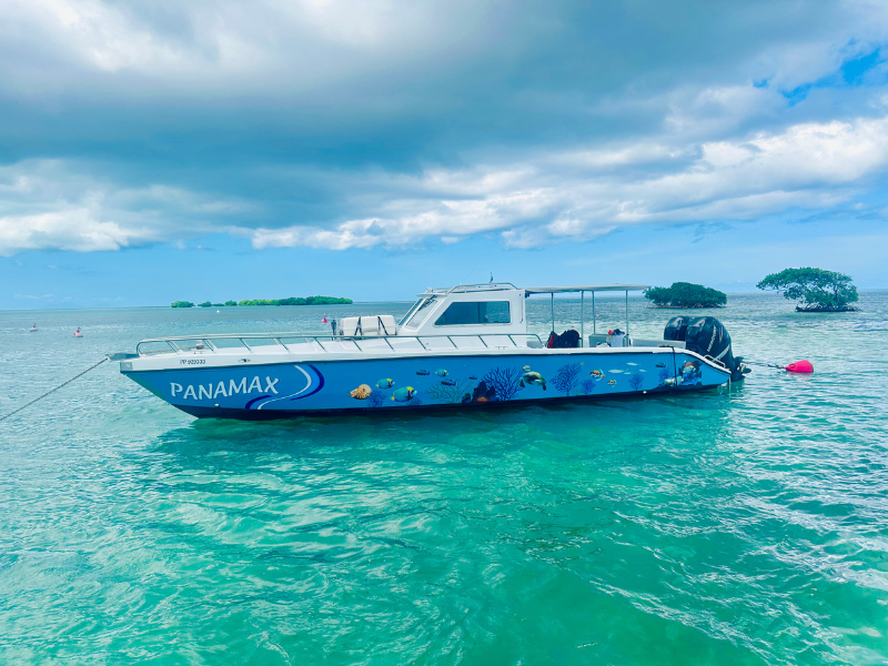
M372 216L270 226L252 222L263 212L259 204L158 183L120 188L78 164L30 161L0 169L0 254L119 250L219 231L248 235L256 249L446 244L475 234L532 248L586 241L622 225L826 210L865 191L867 179L887 168L888 117L702 143L663 134L650 144L542 151L502 167L377 175L370 186L384 195L357 205Z

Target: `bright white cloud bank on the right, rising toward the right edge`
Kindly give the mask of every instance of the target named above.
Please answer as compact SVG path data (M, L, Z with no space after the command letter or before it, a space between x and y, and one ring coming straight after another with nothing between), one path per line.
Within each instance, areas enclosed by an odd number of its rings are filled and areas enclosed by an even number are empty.
M665 174L635 171L652 155L668 158L662 147L583 151L566 159L543 154L504 171L435 170L412 183L412 190L430 193L425 200L394 199L379 218L331 228L259 229L252 232L253 245L344 250L497 232L508 246L531 248L588 240L622 224L748 220L793 208L828 209L854 196L859 181L888 168L888 117L805 123L779 134L698 144L694 152L699 157L689 165ZM565 162L573 164L569 176L552 168ZM605 174L603 163L614 169ZM411 213L385 215L400 210Z

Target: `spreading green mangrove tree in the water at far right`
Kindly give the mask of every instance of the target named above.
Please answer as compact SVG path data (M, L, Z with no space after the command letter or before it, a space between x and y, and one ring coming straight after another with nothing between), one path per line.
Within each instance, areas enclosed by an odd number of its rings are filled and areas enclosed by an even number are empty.
M823 269L785 269L771 273L756 285L758 289L784 292L784 297L798 301L798 312L851 312L858 301L850 276Z

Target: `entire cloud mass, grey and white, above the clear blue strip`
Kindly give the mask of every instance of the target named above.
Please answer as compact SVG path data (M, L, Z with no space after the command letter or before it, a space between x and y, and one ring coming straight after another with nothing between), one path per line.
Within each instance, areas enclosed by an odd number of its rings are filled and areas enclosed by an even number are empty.
M532 246L829 208L859 179L880 186L888 163L888 11L866 2L4 13L4 253L213 231L256 246L475 233Z

